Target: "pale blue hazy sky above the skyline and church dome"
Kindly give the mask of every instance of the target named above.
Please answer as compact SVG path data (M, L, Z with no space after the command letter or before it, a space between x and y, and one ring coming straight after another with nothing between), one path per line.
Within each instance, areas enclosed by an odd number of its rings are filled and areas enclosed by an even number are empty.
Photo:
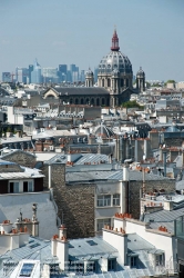
M114 24L134 75L184 80L184 0L0 0L0 75L75 63L93 69ZM0 78L1 79L1 78Z

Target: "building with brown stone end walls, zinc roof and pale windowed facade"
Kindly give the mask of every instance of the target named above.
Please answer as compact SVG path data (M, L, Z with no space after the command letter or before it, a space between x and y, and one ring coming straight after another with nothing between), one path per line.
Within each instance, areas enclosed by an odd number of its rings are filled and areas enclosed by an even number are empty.
M117 166L116 166L117 167ZM55 161L42 166L44 187L53 190L61 222L69 228L69 238L92 237L103 225L112 225L115 212L130 212L140 218L140 191L142 172L131 170L130 180L122 168L115 165L83 165ZM67 171L65 171L67 170ZM175 190L175 182L168 178L145 173L145 189Z

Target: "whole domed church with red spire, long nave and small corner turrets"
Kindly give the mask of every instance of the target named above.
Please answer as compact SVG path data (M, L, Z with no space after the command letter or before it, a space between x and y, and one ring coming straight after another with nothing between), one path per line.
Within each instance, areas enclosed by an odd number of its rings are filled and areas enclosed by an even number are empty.
M117 107L130 99L133 89L133 70L130 59L120 51L119 37L114 30L110 53L105 54L99 64L98 87L91 69L86 71L85 87L48 88L42 98L60 103L92 105ZM139 88L144 88L144 78L139 81Z

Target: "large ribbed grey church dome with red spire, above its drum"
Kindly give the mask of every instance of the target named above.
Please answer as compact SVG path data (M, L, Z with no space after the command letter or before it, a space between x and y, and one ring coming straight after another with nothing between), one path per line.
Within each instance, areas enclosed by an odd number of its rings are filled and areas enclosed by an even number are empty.
M116 30L112 38L111 52L102 58L99 64L99 73L111 73L119 70L121 73L132 73L132 63L129 58L120 51Z

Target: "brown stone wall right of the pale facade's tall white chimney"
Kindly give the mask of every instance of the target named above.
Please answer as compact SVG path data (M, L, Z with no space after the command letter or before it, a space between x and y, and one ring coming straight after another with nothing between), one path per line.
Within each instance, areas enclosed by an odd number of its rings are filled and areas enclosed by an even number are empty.
M140 218L140 188L142 188L142 181L130 181L130 214L133 218ZM145 191L153 192L154 189L161 190L164 189L165 192L175 191L175 181L174 180L149 180L145 181Z

